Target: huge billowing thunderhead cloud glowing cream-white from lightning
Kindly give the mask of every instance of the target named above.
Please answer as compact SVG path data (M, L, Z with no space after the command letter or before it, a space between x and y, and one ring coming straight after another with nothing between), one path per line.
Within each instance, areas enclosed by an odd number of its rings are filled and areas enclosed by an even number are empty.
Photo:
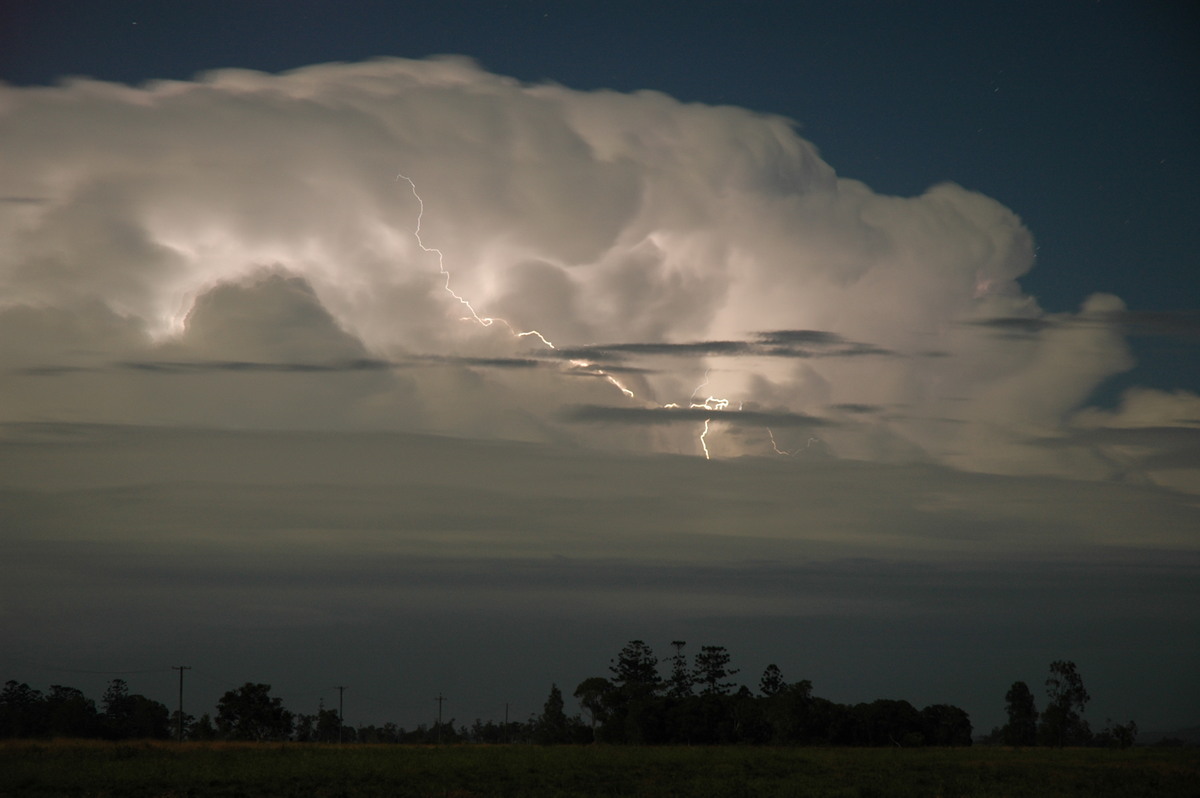
M1098 444L1031 442L1129 366L1120 324L1082 323L1129 320L1121 301L1048 318L1013 211L875 193L782 118L443 58L4 86L0 124L5 420L696 454L641 414L712 396L888 409L822 432L842 456L1112 473Z

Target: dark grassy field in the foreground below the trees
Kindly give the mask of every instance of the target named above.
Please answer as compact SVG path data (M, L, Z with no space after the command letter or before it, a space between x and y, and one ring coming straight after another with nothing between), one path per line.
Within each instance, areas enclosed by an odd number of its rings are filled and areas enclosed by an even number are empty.
M0 796L1200 796L1196 749L17 742Z

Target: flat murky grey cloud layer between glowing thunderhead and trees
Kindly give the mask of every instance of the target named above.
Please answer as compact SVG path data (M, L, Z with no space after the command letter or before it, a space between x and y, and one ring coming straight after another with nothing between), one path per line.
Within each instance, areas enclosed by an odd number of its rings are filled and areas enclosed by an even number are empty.
M978 732L1061 658L1093 725L1200 712L1200 511L1151 485L816 444L706 462L342 431L19 424L0 442L0 667L31 684L98 695L107 677L41 666L162 664L125 678L168 701L166 664L187 662L206 677L191 706L251 679L311 712L336 683L355 722L430 722L444 692L469 724L538 712L642 637L727 646L751 688L776 662L840 701L955 703Z

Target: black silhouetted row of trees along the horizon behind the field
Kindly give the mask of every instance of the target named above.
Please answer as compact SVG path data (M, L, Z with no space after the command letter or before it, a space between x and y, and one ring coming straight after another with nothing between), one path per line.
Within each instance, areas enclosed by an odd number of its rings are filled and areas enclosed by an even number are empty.
M316 714L296 714L271 696L269 684L228 690L216 713L180 715L164 704L131 694L113 679L100 704L82 691L52 685L43 694L10 680L0 691L0 738L76 737L102 739L181 737L190 740L293 740L313 743L539 743L539 744L772 744L920 746L971 745L967 713L950 704L923 709L902 700L841 704L812 694L808 679L788 683L767 666L757 691L738 686L739 672L721 646L674 654L660 671L659 659L641 640L630 641L610 661L607 677L590 677L574 691L582 714L568 714L563 691L552 684L540 714L499 724L446 722L404 730L396 724L352 727L322 703ZM1092 733L1082 719L1090 700L1074 662L1051 664L1048 703L1042 713L1024 682L1009 689L1008 722L982 742L1007 745L1132 745L1136 725L1109 725Z

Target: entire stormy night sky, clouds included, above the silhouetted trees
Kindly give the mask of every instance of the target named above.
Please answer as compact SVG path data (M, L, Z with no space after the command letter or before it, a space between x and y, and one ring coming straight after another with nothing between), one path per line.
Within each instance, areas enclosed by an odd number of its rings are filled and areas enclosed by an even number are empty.
M364 722L444 690L469 722L683 635L748 684L779 658L977 732L1062 658L1106 694L1093 726L1194 722L1198 32L1157 1L0 0L0 629L26 652L0 676L186 658L295 704L349 682ZM198 77L377 56L416 60L380 67L394 96L359 66ZM642 404L431 310L397 168L456 287L630 344L587 352ZM764 355L772 330L811 346ZM707 408L662 419L709 366L748 412L706 463Z

